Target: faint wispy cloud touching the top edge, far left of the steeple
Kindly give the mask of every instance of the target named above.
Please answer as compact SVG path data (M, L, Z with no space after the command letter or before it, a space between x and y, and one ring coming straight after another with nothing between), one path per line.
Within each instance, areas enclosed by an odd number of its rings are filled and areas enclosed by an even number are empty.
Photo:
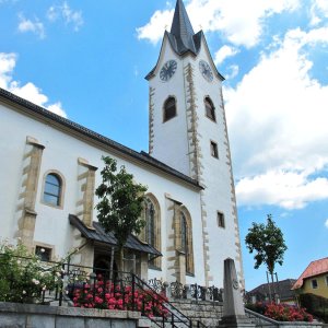
M82 12L72 10L67 1L62 2L61 5L51 5L48 9L47 17L50 22L62 19L66 24L71 24L75 32L78 32L84 23Z

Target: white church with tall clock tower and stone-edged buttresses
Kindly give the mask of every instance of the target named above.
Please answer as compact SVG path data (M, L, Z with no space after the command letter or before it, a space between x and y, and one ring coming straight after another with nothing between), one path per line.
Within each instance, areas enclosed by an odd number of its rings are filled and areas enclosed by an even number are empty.
M224 78L181 0L149 82L149 152L137 152L0 89L1 238L56 260L106 268L116 239L96 222L102 156L148 186L147 225L125 245L142 279L223 286L235 260L244 286Z

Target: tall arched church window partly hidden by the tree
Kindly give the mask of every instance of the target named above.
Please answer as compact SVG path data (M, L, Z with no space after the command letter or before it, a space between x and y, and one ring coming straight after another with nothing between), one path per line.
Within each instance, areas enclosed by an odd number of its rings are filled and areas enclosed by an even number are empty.
M144 202L145 242L161 251L160 208L154 197L148 196ZM161 268L161 258L150 258L151 268Z

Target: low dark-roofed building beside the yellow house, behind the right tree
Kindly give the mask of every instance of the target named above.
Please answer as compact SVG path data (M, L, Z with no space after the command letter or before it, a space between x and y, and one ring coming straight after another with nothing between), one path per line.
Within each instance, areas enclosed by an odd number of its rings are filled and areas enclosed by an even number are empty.
M295 292L292 290L292 286L295 282L295 279L285 279L270 283L270 285L269 283L262 283L250 292L246 293L247 303L255 304L257 302L267 302L269 301L269 294L274 293L280 303L295 305Z

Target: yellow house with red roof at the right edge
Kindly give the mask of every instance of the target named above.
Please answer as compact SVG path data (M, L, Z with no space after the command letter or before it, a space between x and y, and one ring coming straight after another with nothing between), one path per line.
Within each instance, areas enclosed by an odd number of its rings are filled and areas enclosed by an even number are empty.
M328 257L312 261L295 282L297 294L315 294L328 298Z

